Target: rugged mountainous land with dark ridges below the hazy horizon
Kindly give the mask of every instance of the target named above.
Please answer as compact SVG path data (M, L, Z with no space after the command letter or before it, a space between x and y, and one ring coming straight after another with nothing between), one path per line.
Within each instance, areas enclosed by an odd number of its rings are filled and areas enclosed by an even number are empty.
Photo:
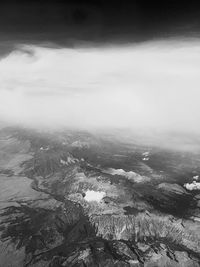
M200 153L0 131L0 266L200 266Z

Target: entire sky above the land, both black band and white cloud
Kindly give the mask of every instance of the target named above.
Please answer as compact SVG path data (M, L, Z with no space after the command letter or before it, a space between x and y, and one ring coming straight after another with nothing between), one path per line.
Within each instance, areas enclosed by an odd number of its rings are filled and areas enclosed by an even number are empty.
M191 9L186 16L184 5L155 9L155 1L150 12L138 1L131 8L118 1L116 9L88 3L65 6L73 14L67 22L60 4L45 4L46 24L36 19L41 6L4 6L11 19L0 27L0 119L40 128L199 133L197 16Z

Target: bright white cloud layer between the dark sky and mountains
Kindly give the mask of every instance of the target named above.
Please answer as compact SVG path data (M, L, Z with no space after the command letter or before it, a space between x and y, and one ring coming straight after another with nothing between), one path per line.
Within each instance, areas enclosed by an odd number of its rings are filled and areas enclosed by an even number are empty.
M200 131L198 40L48 48L0 60L0 117L31 126Z

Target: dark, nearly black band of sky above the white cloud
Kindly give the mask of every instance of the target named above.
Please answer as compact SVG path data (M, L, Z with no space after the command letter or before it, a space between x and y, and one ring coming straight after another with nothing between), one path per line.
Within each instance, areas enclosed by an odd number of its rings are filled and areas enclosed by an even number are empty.
M2 40L73 45L198 36L198 1L1 1Z

